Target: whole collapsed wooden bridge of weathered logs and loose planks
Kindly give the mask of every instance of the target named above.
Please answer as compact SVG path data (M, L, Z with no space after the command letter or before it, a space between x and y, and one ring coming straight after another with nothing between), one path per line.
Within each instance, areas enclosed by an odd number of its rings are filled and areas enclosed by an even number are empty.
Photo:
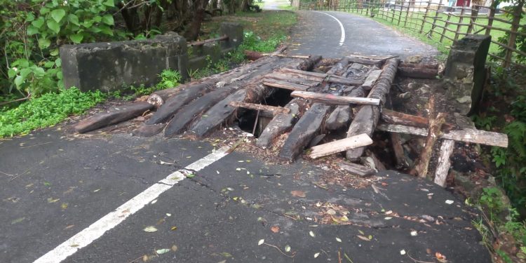
M428 173L426 166L431 158L427 151L431 151L440 138L444 143L434 178L443 186L452 142L507 147L506 135L458 129L441 120L440 114L434 114L431 103L427 117L385 109L400 69L405 75L436 75L434 72L438 73L438 69L429 65L400 65L398 58L360 55L349 55L338 61L277 53L260 57L229 72L159 90L146 102L134 102L90 116L74 128L86 133L144 116L146 121L134 131L135 135L162 133L166 137L202 138L240 122L244 114L252 112L255 113L254 128L250 130L256 133L257 128L257 147L271 147L278 137L288 134L278 149L281 159L295 161L307 148L310 148L307 155L312 159L344 153L349 162L342 163L342 169L361 176L372 175L373 169L379 170L382 166L374 154L366 153L367 145L373 143L371 137L375 130L427 137L429 140L412 169L422 177ZM330 142L320 144L330 131L340 137L333 136ZM397 162L405 163L400 152L403 149L396 140L393 140L393 149ZM369 158L364 159L365 154ZM371 162L377 164L371 166Z

